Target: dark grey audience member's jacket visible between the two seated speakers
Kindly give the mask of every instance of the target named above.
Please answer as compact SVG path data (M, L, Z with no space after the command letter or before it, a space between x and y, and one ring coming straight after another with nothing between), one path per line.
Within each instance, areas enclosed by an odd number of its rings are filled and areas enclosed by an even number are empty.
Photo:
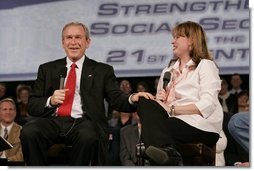
M120 160L123 166L135 166L138 125L127 125L120 130Z

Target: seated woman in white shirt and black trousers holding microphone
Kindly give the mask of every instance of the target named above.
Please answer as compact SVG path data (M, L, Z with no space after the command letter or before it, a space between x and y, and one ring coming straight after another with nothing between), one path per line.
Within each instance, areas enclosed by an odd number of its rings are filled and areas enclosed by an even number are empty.
M222 130L221 81L204 29L187 21L172 35L174 58L161 73L156 100L141 98L137 108L151 165L183 165L177 144L214 147Z

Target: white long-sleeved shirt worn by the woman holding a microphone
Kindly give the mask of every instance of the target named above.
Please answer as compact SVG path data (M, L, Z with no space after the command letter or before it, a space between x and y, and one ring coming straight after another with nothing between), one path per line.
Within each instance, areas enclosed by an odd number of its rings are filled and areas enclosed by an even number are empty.
M194 62L190 60L186 65L193 64ZM157 90L163 87L164 73L172 69L179 69L179 61L162 71ZM172 102L175 106L195 104L202 116L182 113L174 117L198 129L219 134L223 121L223 110L218 100L220 89L221 80L217 66L211 60L202 59L196 69L190 70L186 78L176 84L176 100Z

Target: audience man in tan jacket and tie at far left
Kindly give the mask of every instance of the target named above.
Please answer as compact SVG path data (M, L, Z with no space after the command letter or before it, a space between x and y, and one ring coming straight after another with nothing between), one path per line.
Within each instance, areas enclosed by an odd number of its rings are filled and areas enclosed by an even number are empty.
M0 152L0 158L8 162L22 162L23 153L20 142L20 130L22 127L14 122L17 115L16 104L11 98L0 101L0 133L13 147Z

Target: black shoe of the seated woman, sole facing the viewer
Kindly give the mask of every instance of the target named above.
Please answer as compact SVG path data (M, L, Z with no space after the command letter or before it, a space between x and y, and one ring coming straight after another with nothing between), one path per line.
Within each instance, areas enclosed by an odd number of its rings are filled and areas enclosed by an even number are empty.
M157 166L183 166L181 154L173 147L158 148L149 146L146 155L152 165Z

